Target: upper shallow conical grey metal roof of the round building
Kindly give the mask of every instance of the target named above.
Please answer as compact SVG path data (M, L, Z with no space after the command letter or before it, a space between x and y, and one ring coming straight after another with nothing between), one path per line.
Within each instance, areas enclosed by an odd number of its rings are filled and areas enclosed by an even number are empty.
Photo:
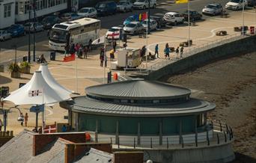
M162 82L146 81L144 79L127 80L111 84L100 84L85 88L87 94L115 99L165 99L174 96L186 96L189 89L177 87Z

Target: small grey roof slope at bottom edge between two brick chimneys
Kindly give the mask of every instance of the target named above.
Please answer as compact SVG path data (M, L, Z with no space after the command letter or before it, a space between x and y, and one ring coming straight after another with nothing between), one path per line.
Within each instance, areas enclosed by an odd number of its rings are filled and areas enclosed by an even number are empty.
M83 154L82 158L76 161L76 163L113 163L113 154L105 153L100 150L91 148L88 153Z

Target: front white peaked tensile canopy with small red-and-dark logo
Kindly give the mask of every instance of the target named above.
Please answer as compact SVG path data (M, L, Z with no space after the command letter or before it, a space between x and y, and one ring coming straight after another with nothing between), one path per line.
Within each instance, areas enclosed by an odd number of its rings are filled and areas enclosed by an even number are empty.
M50 86L43 79L41 71L36 71L27 84L10 93L4 101L13 102L15 105L42 105L67 99L70 99L67 93L61 94L61 90Z

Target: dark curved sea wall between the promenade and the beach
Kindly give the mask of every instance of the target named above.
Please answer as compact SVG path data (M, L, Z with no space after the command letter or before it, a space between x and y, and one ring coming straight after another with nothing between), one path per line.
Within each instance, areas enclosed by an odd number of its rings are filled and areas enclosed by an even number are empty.
M157 80L166 75L173 75L180 73L183 70L192 70L193 68L201 67L219 58L227 58L234 55L243 55L251 52L256 52L256 35L244 37L240 40L226 43L213 49L207 49L204 52L199 52L198 54L191 55L172 64L168 64L159 70L150 72L149 75L137 77Z

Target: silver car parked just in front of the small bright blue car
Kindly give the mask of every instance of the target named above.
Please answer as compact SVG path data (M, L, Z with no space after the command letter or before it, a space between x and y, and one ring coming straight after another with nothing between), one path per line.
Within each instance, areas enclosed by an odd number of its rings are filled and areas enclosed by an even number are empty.
M140 34L144 31L141 22L129 22L124 26L124 33L126 34Z

